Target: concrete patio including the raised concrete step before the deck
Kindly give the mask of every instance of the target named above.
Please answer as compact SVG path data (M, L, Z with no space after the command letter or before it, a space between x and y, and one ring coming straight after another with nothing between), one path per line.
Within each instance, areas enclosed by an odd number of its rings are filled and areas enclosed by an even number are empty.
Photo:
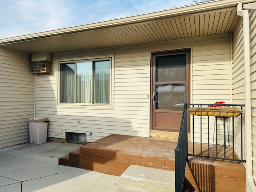
M80 144L22 143L0 148L0 192L170 192L174 172L130 166L121 176L58 165Z

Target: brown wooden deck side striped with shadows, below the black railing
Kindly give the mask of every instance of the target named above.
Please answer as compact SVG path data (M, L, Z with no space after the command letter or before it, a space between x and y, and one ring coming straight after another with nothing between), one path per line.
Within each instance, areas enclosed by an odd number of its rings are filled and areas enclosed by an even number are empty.
M184 188L195 191L245 191L246 169L239 162L190 157L186 164Z

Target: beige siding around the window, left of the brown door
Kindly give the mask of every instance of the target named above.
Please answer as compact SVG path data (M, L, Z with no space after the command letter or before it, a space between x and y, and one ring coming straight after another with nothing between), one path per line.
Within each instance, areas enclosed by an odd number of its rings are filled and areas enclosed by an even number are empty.
M106 52L108 51L98 51L98 54L102 55ZM90 57L90 54L87 55L86 52L85 54L79 53L77 56L74 56L75 54L72 58ZM52 58L57 57L58 55L52 56ZM64 57L66 58L65 54ZM50 77L38 75L36 81L36 114L47 116L50 119L48 136L63 138L65 132L87 134L93 132L93 138L87 136L87 141L98 140L111 133L148 137L149 58L149 53L115 55L114 110L56 108L56 61L53 59L54 74ZM47 93L47 98L45 93ZM76 124L76 120L81 120L81 124ZM61 130L63 134L54 134L54 129Z

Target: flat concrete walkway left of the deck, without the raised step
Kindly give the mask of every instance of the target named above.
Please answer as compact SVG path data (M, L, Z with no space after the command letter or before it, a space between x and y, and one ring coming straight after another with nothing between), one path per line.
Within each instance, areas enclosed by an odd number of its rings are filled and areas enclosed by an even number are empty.
M0 148L0 192L116 192L120 177L58 165L81 145L47 142Z

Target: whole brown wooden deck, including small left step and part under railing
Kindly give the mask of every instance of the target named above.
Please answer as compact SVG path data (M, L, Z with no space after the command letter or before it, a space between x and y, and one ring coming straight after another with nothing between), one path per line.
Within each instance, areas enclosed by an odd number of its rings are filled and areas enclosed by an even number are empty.
M59 159L59 164L120 176L130 165L175 170L174 149L177 142L156 138L143 138L112 134L80 147L79 151ZM195 153L200 154L200 145ZM216 152L211 145L211 154ZM218 156L223 154L219 148ZM231 149L231 150L230 150ZM202 146L203 153L208 145ZM192 152L192 144L188 145ZM227 146L226 155L232 148ZM206 153L208 154L208 153ZM190 157L186 166L185 187L198 192L231 192L245 190L245 168L238 162Z

